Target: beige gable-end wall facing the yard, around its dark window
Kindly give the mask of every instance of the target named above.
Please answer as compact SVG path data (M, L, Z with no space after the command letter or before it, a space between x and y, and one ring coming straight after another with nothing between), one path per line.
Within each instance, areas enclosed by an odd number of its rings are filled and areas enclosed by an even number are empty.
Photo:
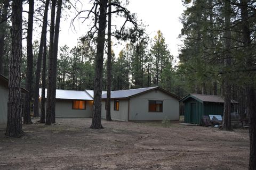
M149 100L163 101L163 112L149 112ZM179 100L160 90L130 98L130 121L179 120Z

